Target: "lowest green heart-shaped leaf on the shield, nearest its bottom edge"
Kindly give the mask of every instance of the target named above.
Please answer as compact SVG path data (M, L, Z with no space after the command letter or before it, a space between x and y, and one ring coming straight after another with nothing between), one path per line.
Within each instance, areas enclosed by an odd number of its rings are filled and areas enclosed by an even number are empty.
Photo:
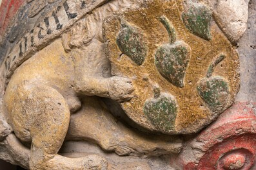
M144 104L144 114L157 129L162 132L175 130L177 103L170 94L161 94L158 98L147 99Z

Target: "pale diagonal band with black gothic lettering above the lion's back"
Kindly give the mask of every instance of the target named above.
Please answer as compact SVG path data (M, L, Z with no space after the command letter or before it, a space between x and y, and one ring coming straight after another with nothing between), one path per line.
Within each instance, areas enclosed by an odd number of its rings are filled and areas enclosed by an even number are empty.
M86 13L92 12L107 1L66 0L62 6L57 6L54 12L49 13L42 22L21 38L8 53L5 59L6 78L10 78L15 69L34 55L35 51L46 46L54 37L61 35L63 31L70 28L74 22L81 19Z

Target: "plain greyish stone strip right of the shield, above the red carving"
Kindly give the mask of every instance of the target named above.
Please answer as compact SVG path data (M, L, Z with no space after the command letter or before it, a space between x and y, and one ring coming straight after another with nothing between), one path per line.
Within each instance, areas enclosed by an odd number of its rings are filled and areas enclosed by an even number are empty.
M256 1L250 1L249 20L246 33L239 40L239 55L241 57L241 88L236 101L256 101Z

